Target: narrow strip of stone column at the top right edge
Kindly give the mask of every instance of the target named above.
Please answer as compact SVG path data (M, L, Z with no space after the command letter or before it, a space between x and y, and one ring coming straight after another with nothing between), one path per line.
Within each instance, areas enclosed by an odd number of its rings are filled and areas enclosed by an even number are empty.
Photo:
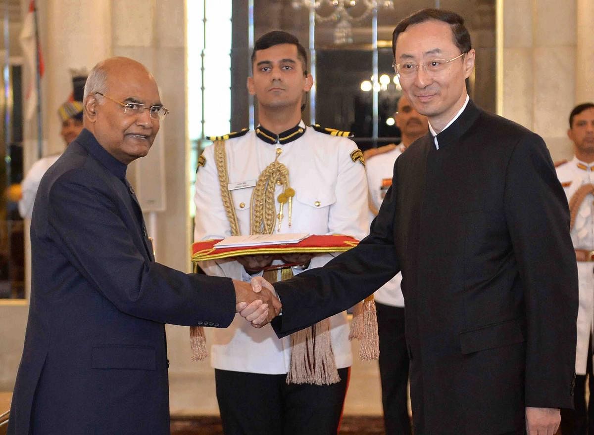
M594 0L577 0L576 104L594 101Z

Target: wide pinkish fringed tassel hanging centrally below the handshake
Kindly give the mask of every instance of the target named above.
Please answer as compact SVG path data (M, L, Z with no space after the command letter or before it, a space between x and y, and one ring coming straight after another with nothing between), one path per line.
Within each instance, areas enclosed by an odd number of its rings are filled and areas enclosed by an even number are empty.
M291 334L291 362L286 383L331 385L340 382L330 339L330 320Z

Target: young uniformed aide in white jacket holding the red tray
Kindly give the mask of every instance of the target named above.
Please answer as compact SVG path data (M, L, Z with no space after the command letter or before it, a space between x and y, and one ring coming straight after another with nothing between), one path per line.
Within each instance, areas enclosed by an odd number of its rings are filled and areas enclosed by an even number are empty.
M226 139L228 190L239 232L251 234L254 186L261 173L277 160L288 169L294 196L283 205L279 219L277 198L286 186L276 186L274 208L278 215L274 233L347 234L362 239L369 226L364 159L353 141L340 137L342 132L314 129L299 122L301 95L309 90L311 76L301 68L305 55L298 52L298 47L295 37L285 32L274 31L261 37L252 58L254 78L248 82L248 88L258 97L263 123L274 123L274 117L282 115L286 106L280 103L294 83L298 84L293 97L295 107L290 111L291 116L297 117L292 128L275 134L259 125L255 131L214 138ZM274 104L280 104L280 108ZM231 235L214 148L207 147L198 164L194 198L196 241ZM292 272L298 274L305 268L322 266L331 258L329 254L314 256L308 265L293 267ZM277 263L283 262L276 260L273 265ZM203 262L201 267L209 275L244 281L253 276L232 259ZM270 325L256 329L236 315L228 329L212 332L211 364L217 369L217 399L226 434L337 433L346 394L347 367L352 364L346 313L330 317L331 350L340 376L340 382L331 385L287 385L290 337L277 338ZM252 386L258 390L255 396L249 392ZM244 392L245 397L241 396Z

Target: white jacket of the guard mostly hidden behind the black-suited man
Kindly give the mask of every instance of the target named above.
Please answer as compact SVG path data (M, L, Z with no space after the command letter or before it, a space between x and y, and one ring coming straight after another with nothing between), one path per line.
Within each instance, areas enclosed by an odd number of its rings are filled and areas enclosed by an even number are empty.
M366 162L365 172L367 173L367 183L369 185L369 199L376 210L380 209L387 188L391 185L394 162L404 150L403 145L398 145L391 151L374 155ZM374 218L375 215L370 210L369 222L371 223ZM398 272L394 278L375 291L375 301L393 307L405 306L405 299L402 296L402 290L400 290L400 282L402 282L402 274Z

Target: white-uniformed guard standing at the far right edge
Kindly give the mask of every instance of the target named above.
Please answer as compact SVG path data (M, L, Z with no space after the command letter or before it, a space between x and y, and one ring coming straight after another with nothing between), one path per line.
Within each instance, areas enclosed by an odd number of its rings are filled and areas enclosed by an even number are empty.
M576 249L580 294L575 411L562 410L561 430L563 433L594 434L594 406L590 401L586 410L585 401L586 373L590 379L590 398L594 391L590 344L594 321L594 104L576 106L571 112L569 124L567 135L573 141L575 156L555 166L570 205L571 240Z

